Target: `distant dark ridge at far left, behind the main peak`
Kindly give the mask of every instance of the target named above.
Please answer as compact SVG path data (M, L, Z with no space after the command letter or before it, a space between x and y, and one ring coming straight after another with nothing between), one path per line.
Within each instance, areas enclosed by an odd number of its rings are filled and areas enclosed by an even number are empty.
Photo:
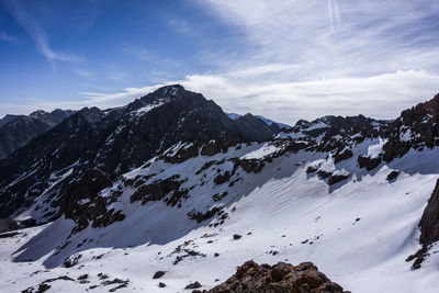
M35 111L29 116L7 115L0 120L0 159L11 156L36 136L47 132L74 111L55 110L50 113Z

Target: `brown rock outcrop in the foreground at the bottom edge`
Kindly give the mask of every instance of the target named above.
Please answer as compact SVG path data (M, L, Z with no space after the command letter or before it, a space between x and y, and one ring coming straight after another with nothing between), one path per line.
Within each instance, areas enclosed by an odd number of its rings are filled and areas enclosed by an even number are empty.
M319 272L317 267L311 262L303 262L299 266L285 262L279 262L274 266L259 266L255 261L245 262L226 282L204 292L347 293L340 285L333 283L324 273Z

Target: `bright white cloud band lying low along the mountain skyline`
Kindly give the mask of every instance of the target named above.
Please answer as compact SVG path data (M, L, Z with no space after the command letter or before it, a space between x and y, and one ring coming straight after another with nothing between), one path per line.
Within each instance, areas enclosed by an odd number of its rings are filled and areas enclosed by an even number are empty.
M188 90L201 92L227 112L241 114L251 112L293 124L299 119L314 120L329 114L363 114L375 119L397 117L401 111L429 100L437 93L439 75L425 70L406 70L371 77L270 84L247 82L246 78L239 79L236 72L230 76L192 75L183 80L151 87L127 88L115 93L80 92L79 94L83 97L81 101L40 102L20 109L33 111L37 108L53 110L80 109L86 105L101 109L119 106L170 83L181 83ZM0 115L7 114L13 105L0 104L0 109L2 111Z

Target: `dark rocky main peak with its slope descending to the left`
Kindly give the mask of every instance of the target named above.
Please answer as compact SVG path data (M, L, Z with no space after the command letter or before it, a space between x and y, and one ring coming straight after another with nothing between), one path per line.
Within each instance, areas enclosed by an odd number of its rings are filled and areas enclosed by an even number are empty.
M90 173L102 172L111 182L181 140L235 144L269 139L277 129L251 115L230 120L181 86L119 109L86 108L0 162L0 216L33 205L38 222L56 218L64 194L80 192Z

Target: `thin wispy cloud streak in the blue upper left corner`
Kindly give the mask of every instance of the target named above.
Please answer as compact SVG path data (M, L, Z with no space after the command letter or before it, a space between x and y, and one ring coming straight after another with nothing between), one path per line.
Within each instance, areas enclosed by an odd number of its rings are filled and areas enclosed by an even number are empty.
M36 20L27 14L26 10L20 4L20 1L2 1L11 15L19 22L26 33L35 42L37 49L55 67L56 61L78 63L82 58L67 53L56 52L49 45L49 38L46 32L40 26Z

